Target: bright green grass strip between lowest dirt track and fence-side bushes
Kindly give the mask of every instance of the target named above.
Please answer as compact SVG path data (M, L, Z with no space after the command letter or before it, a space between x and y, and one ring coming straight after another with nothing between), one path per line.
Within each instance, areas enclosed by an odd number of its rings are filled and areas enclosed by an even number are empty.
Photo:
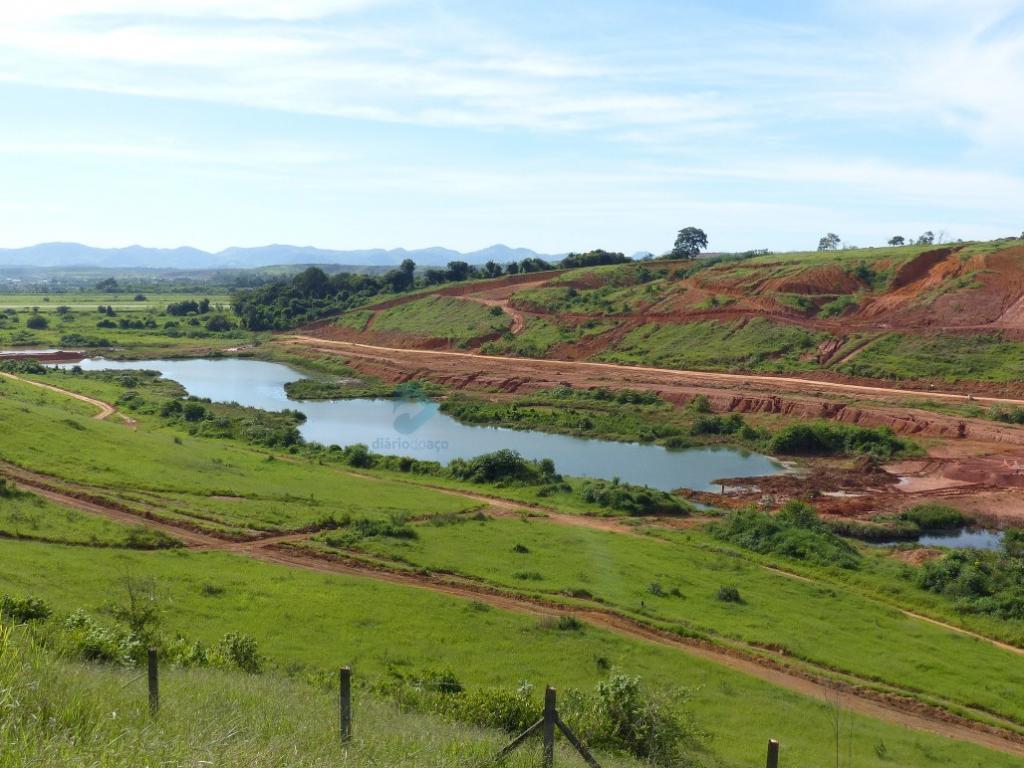
M58 583L54 572L61 573ZM797 765L822 764L835 749L826 703L671 648L592 628L558 630L536 617L423 590L226 554L0 542L5 589L43 596L60 610L101 611L116 597L125 573L158 580L166 595L168 631L209 642L225 632L247 631L271 662L293 673L351 664L366 678L386 677L391 670L452 669L469 686L529 680L589 687L610 665L660 686L690 689L689 707L726 765L756 764L768 736L780 738L787 759ZM849 721L851 733L844 735L843 749L850 748L858 765L926 766L936 760L957 766L1017 764L1015 758L970 744L855 716Z

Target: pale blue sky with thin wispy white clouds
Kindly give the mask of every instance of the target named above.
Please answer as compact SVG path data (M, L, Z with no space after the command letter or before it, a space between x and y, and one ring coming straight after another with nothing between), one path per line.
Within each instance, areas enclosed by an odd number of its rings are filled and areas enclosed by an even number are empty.
M0 247L1024 229L1024 0L0 0Z

